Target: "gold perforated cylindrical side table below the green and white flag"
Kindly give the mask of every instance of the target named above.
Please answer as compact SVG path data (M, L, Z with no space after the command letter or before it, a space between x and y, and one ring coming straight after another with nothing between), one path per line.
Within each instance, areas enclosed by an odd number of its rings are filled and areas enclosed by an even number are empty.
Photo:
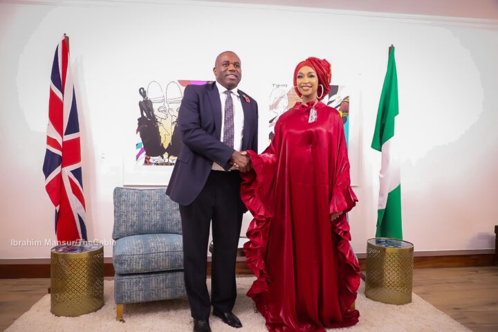
M388 304L412 302L413 243L377 237L367 240L365 295Z

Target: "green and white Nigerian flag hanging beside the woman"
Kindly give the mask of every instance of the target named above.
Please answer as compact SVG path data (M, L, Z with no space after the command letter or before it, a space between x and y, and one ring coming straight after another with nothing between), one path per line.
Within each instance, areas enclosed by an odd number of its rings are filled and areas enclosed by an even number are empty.
M376 237L403 239L399 149L394 137L394 120L397 115L398 78L394 46L391 46L371 145L373 149L382 151Z

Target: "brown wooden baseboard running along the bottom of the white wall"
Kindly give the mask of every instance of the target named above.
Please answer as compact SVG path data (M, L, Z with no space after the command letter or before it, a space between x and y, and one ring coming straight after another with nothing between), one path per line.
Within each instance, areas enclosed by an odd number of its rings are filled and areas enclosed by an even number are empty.
M452 250L414 252L414 268L463 268L494 266L494 250ZM358 254L360 268L365 270L365 254ZM237 275L252 275L246 257L237 257ZM211 257L208 257L208 274L211 274ZM113 277L112 257L104 258L104 276ZM49 278L50 259L0 259L0 279Z

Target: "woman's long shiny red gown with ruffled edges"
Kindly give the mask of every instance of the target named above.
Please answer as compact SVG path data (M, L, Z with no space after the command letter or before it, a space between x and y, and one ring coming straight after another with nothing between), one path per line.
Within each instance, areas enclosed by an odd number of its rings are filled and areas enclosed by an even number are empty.
M350 187L344 126L336 109L297 103L275 127L270 146L249 151L255 172L243 174L241 196L254 219L244 250L257 280L248 291L268 331L324 331L351 326L360 286L349 223Z

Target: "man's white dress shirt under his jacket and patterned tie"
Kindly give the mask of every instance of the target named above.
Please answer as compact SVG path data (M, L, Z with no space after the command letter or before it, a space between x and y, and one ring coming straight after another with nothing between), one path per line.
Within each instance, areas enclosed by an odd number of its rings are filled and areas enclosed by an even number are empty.
M221 137L220 140L223 142L223 129L225 128L225 101L227 95L225 94L226 89L223 85L216 82L216 87L219 91L220 102L221 102ZM239 96L239 89L235 88L232 91L232 100L234 106L234 150L241 151L242 149L242 132L243 132L243 109L242 102ZM232 167L233 169L234 167ZM223 167L217 163L213 163L211 169L216 171L224 171Z

